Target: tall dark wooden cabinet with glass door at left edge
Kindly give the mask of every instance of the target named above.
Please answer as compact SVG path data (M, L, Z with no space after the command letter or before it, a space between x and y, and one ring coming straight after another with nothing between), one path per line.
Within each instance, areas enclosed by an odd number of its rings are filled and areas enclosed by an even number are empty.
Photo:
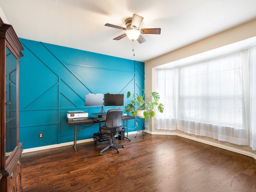
M19 142L19 63L23 47L13 27L0 18L0 191L20 192L22 143Z

